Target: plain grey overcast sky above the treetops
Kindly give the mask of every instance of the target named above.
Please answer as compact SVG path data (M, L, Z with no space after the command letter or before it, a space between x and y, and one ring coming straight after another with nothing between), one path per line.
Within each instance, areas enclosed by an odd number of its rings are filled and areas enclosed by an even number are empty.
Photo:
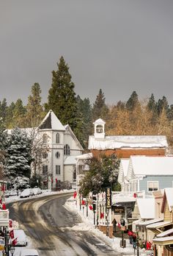
M172 0L0 0L0 101L43 102L63 56L75 91L106 103L154 93L173 104Z

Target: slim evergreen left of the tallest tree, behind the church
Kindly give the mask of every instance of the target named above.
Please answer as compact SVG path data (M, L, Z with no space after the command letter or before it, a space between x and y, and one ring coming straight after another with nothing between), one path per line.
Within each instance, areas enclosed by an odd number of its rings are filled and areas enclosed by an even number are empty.
M26 106L26 120L28 127L37 127L43 118L40 93L40 85L35 82L34 85L32 85L32 95L29 96L28 104Z

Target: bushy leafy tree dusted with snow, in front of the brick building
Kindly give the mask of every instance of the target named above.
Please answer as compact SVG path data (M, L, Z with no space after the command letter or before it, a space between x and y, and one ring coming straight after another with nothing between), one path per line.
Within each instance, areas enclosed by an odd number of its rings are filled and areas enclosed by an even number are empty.
M114 190L117 188L119 159L117 155L103 156L100 159L92 157L86 160L89 171L80 182L80 193L87 196L90 191L104 191L106 187L111 186Z

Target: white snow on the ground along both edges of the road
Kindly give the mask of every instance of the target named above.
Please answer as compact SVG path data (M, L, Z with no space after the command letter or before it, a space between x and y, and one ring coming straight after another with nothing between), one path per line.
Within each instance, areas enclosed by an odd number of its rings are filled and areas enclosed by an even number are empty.
M40 194L37 196L45 196L45 195L50 195L50 194L54 194L54 193L67 193L67 192L71 193L71 192L73 192L73 190L70 190L70 191L64 190L64 191L59 191L59 192L45 191L43 194ZM6 203L15 202L16 200L25 200L25 199L20 199L19 196L11 196L11 197L7 198L5 200L5 202ZM76 230L76 231L83 230L83 231L92 232L98 238L100 238L102 241L105 241L113 249L115 249L117 252L119 252L119 255L122 255L122 254L134 255L134 249L130 245L128 239L126 239L126 248L121 248L119 246L121 238L108 238L106 235L103 234L103 232L100 232L100 230L97 230L97 228L95 228L95 225L93 223L93 219L94 219L93 211L88 210L88 217L86 217L87 216L86 207L81 207L81 210L80 210L79 206L76 205L76 200L73 199L73 196L71 196L70 199L67 200L64 207L66 207L66 209L70 210L71 212L76 212L78 215L81 216L81 220L82 220L82 222L79 223L78 225L69 227L69 230ZM66 229L67 229L67 227L66 227ZM34 249L32 240L29 237L27 237L27 241L28 241L28 245L26 247ZM15 247L14 256L19 256L21 250L25 249L26 247ZM136 254L137 254L137 252L136 252ZM140 249L139 255L145 256L148 254L147 254L147 252L143 252ZM0 256L1 256L1 254L0 254Z

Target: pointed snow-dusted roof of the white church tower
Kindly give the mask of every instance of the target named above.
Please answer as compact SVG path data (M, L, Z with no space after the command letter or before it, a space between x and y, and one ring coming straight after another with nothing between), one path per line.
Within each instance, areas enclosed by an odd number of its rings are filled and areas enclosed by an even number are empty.
M41 122L39 129L55 129L58 131L65 131L65 127L59 121L52 110L49 110L45 118Z

